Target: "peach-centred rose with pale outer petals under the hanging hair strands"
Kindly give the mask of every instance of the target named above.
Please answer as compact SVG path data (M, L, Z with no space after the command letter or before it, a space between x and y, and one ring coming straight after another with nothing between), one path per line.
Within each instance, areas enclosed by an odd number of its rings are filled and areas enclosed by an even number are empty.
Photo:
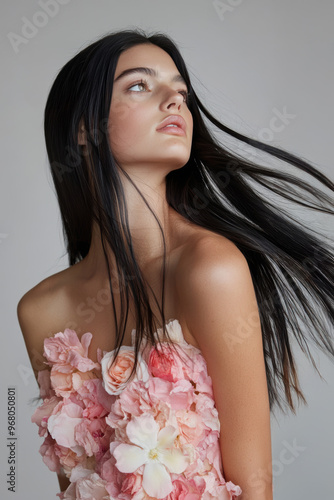
M112 359L115 351L107 352L101 360L103 386L109 394L120 394L127 385L132 367L134 365L135 352L131 346L122 346L115 363ZM141 354L138 355L137 371L132 379L147 382L149 374L147 366Z

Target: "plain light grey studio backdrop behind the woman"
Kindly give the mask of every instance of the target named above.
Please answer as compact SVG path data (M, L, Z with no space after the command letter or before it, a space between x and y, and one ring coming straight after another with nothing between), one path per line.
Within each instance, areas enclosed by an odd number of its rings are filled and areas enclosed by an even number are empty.
M3 0L1 11L0 495L51 500L58 481L42 462L43 438L30 421L35 406L29 401L38 387L16 305L42 279L68 267L43 136L44 106L57 72L110 31L138 26L165 32L178 44L200 98L223 123L286 148L333 178L334 4ZM268 155L258 159L274 164ZM328 218L294 214L330 234ZM310 349L325 381L295 348L308 407L297 416L277 411L272 418L275 500L333 498L334 364ZM7 490L8 387L16 392L15 493Z

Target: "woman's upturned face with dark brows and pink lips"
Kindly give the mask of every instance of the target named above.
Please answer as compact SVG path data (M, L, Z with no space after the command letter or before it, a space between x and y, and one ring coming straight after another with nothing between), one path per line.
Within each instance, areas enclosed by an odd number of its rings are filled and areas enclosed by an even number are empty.
M154 74L133 68L149 68ZM148 70L146 70L148 71ZM128 173L181 168L189 159L192 115L185 102L188 89L173 59L160 47L141 44L118 59L109 113L109 140L113 155ZM181 117L179 127L157 129L168 116Z

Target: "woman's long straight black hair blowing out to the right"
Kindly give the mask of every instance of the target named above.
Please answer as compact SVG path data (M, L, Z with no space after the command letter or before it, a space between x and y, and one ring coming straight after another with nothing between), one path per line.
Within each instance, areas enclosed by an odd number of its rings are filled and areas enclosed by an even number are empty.
M333 183L307 161L236 132L212 116L193 89L178 48L165 34L148 35L134 29L104 35L67 62L51 87L45 108L45 140L69 265L87 255L95 220L106 257L116 322L114 361L125 334L129 293L134 301L137 336L133 375L139 343L146 337L156 345L157 324L148 298L148 285L134 256L120 167L113 157L107 132L118 58L123 51L143 43L155 44L166 51L189 89L187 102L193 117L191 154L181 169L166 176L167 201L186 219L227 237L246 257L259 306L270 409L277 404L284 411L288 403L295 413L293 391L304 404L307 402L299 386L291 346L293 337L316 370L306 333L323 352L334 357L334 258L329 244L280 208L273 195L333 214L332 199L324 189L333 191ZM320 187L303 180L304 174L296 177L292 170L284 173L282 169L257 164L231 151L209 131L204 117L242 143L309 174ZM88 131L85 150L78 144L80 124ZM147 204L144 197L143 200ZM158 219L157 223L162 231ZM120 323L106 243L116 259ZM164 316L164 237L163 243L161 306L159 300L157 304L160 323L168 337Z

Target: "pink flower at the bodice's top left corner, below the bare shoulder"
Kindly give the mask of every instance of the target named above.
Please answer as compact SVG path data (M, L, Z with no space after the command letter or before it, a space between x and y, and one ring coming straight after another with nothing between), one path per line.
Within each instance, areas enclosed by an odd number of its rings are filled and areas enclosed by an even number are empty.
M66 328L64 333L56 333L44 340L44 356L56 371L62 373L99 369L99 364L87 357L91 339L92 334L87 332L80 341L74 330Z

